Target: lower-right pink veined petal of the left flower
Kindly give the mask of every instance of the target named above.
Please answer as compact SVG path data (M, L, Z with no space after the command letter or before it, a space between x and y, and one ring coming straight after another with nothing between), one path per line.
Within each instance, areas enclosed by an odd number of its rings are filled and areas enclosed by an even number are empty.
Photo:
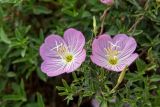
M74 61L65 67L67 73L73 72L81 66L81 64L85 61L86 58L86 50L83 49L81 53L74 57Z

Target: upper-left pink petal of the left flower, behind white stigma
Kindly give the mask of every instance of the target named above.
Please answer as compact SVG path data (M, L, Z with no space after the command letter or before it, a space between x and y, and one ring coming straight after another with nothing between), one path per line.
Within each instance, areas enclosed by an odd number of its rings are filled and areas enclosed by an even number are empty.
M43 43L40 47L40 56L43 60L50 59L57 56L57 48L58 45L63 44L66 46L64 40L58 35L50 35L45 39L45 43Z

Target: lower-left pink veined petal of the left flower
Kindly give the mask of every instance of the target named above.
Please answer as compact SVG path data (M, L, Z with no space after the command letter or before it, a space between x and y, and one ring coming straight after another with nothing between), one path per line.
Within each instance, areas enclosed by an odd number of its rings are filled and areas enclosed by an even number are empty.
M41 64L42 72L46 73L48 76L53 77L65 73L65 63L61 59L49 59L45 60Z

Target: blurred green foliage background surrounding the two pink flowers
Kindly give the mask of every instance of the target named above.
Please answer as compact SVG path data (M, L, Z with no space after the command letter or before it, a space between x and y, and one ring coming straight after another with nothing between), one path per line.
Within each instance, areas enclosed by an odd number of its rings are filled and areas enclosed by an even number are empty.
M92 98L108 107L160 107L159 7L156 0L115 0L110 6L103 32L133 36L139 59L108 94L119 74L89 57L92 18L99 32L109 6L98 0L0 0L0 107L91 107ZM48 78L40 70L39 47L47 35L70 27L85 35L87 59L74 73Z

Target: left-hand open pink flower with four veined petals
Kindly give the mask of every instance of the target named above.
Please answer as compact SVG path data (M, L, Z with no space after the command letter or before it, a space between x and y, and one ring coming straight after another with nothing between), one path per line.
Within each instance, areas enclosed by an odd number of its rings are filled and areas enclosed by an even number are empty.
M49 35L40 47L42 72L50 77L73 72L85 60L84 45L84 35L73 28L66 30L63 38Z

